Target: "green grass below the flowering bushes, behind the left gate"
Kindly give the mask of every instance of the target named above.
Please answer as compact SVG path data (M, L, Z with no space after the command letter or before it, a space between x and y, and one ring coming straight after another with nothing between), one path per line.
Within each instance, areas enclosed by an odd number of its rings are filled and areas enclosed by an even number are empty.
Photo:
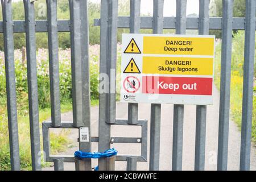
M95 106L98 104L98 100L92 100L91 105ZM71 102L65 102L61 104L61 113L72 110ZM41 109L39 110L39 122L42 123L46 119L51 117L51 109ZM0 120L6 122L0 122L0 171L10 170L10 149L9 149L9 135L7 133L7 113L6 107L0 107ZM2 120L3 119L3 120ZM28 113L21 114L18 116L18 129L19 129L19 148L20 148L20 166L22 170L31 170L31 151L30 151L30 125ZM42 139L42 125L40 124L40 142L41 150L43 150L43 139ZM60 133L50 134L50 144L51 153L57 154L68 149L71 141L67 138L69 130L61 130ZM42 154L43 156L43 154ZM42 167L49 166L49 163L43 162L42 157Z

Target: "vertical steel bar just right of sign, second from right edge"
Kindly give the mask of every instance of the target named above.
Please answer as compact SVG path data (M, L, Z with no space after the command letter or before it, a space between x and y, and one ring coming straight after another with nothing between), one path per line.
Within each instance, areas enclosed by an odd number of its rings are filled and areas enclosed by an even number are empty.
M221 85L217 170L226 170L228 166L233 0L222 1L222 15Z

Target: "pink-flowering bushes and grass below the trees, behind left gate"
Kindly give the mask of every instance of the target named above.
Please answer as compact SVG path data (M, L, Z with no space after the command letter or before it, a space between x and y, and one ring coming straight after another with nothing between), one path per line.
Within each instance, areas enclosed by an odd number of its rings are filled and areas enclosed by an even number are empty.
M121 47L118 47L121 49ZM98 76L99 76L99 54L100 46L90 46L90 84L92 105L98 104ZM30 155L30 125L28 117L28 91L27 91L27 68L26 61L22 62L22 51L15 50L15 76L16 97L18 106L18 129L20 146L20 164L22 169L31 169ZM59 50L60 70L60 98L61 112L72 110L72 83L71 83L71 52L70 49ZM119 58L119 60L121 60ZM49 92L49 66L47 49L38 49L38 100L39 120L45 121L51 117L50 92ZM10 169L10 149L6 107L5 88L5 64L3 52L0 52L0 170ZM40 125L41 126L41 125ZM40 129L41 132L41 129ZM67 149L69 140L67 130L60 133L51 133L51 151L56 154ZM42 143L41 139L41 143ZM43 148L43 146L42 146ZM42 158L43 159L43 158ZM46 164L43 163L43 166Z

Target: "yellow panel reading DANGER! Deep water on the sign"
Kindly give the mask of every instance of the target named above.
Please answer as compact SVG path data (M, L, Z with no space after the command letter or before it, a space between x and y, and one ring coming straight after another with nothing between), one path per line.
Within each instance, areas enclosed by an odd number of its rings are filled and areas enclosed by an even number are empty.
M213 56L214 38L144 36L143 53Z

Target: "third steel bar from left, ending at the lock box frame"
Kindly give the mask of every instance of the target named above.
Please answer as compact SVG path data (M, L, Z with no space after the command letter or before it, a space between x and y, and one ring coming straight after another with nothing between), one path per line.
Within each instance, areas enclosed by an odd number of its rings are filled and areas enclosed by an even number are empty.
M59 43L57 27L57 1L47 0L49 78L51 91L52 126L61 126L60 84L59 84Z

